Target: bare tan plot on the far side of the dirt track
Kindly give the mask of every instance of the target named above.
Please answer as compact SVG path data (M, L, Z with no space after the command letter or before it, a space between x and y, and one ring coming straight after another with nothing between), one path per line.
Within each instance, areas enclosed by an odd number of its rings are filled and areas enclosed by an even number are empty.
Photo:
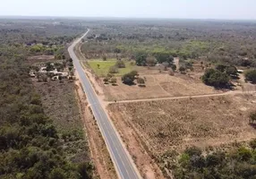
M117 78L117 86L112 86L110 84L104 85L103 89L106 99L129 100L141 98L167 98L221 92L206 86L200 80L178 73L175 73L175 76L170 76L166 73L158 73L141 75L141 77L146 78L145 88L141 88L137 85L125 85L121 81L121 78Z

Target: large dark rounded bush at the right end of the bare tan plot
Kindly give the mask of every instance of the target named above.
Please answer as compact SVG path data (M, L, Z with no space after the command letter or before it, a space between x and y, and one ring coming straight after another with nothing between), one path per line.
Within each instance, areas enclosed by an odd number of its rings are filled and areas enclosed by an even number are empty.
M206 70L201 79L205 84L218 88L225 87L229 81L226 72L220 72L214 69Z

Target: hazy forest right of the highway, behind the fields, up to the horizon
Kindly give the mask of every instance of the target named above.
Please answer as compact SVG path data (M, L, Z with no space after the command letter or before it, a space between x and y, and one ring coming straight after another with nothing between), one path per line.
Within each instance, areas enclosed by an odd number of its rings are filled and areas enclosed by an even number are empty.
M89 58L142 52L255 66L255 32L255 21L101 21L82 50Z

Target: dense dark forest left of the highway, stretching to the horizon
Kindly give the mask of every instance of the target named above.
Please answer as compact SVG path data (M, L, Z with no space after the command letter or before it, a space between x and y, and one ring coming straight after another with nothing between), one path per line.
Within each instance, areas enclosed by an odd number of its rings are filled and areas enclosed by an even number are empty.
M0 178L91 178L90 161L74 163L67 158L64 135L45 114L26 61L33 55L28 43L65 46L84 27L28 20L0 24Z

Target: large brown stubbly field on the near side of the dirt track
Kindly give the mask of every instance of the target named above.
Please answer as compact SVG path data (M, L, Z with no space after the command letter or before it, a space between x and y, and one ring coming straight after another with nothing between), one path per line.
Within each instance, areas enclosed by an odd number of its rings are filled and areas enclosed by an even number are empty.
M108 109L120 128L132 126L150 152L159 157L168 150L187 146L221 146L256 137L248 115L256 107L256 95L187 98L111 104Z

